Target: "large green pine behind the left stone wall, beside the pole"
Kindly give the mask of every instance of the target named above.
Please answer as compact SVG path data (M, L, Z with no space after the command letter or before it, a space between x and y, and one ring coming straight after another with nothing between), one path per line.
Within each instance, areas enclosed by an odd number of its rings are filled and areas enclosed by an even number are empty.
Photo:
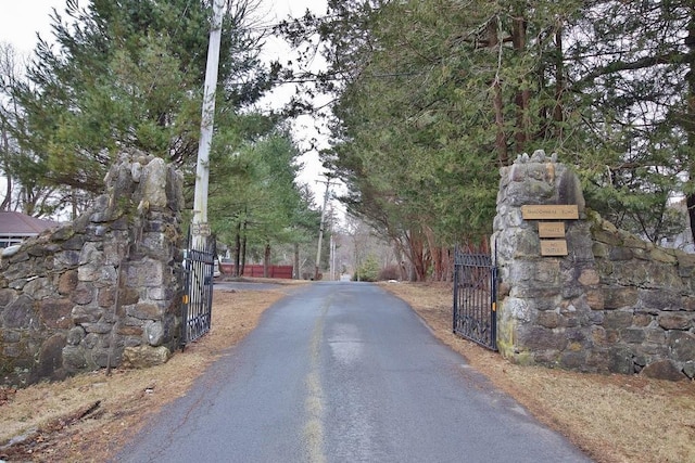
M271 77L257 60L258 37L244 27L249 7L239 0L225 10L220 113L256 101ZM101 192L113 156L126 149L191 169L208 2L70 0L65 15L54 14L56 43L39 42L28 81L10 87L18 104L12 136L25 158L16 175Z

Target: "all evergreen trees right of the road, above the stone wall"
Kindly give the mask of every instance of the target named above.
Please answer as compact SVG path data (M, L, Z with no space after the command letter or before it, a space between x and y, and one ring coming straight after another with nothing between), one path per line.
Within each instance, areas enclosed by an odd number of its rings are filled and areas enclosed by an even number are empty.
M286 28L327 42L324 162L349 210L414 263L427 266L418 242L489 234L497 167L536 149L576 165L590 206L618 224L653 241L685 228L668 203L695 205L692 2L364 0L329 13Z

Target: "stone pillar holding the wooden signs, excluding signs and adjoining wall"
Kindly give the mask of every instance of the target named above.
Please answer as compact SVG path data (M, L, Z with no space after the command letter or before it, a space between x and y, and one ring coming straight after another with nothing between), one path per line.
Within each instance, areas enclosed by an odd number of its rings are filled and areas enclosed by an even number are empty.
M593 308L602 304L590 224L578 177L538 151L501 169L492 248L500 268L497 345L522 364L593 371ZM568 255L541 256L538 221L523 205L577 205L566 220Z

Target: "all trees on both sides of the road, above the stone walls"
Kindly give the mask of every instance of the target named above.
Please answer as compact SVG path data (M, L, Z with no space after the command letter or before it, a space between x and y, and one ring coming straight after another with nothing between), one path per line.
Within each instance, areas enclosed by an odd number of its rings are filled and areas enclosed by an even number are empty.
M210 2L118 5L70 0L26 68L2 46L4 208L77 214L129 147L192 185ZM249 249L267 259L316 239L288 118L318 115L320 92L341 200L414 279L448 279L454 245L485 249L498 167L536 149L573 165L587 205L620 228L671 239L690 227L679 200L695 219L693 0L329 0L276 27L251 23L255 5L227 4L211 157L211 222L237 268ZM271 33L298 56L263 63ZM317 54L327 68L301 70ZM301 82L290 107L253 111L288 81Z

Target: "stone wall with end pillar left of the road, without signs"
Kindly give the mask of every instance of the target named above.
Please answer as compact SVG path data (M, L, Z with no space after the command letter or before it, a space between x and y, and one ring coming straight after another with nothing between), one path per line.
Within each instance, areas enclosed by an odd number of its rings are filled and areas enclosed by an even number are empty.
M73 223L0 258L0 383L166 361L180 329L182 178L124 154Z

